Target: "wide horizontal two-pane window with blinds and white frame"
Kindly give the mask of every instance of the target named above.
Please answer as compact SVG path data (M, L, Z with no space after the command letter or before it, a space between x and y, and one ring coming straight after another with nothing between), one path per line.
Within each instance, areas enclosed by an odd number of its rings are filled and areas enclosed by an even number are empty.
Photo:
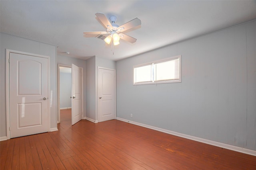
M181 55L133 67L133 84L181 82Z

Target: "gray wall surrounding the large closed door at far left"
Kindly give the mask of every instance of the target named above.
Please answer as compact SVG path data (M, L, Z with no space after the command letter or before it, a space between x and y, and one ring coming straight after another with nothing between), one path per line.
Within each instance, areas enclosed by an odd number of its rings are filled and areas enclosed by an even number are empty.
M56 128L56 46L5 33L0 33L0 43L0 137L6 137L6 49L50 57L50 128Z

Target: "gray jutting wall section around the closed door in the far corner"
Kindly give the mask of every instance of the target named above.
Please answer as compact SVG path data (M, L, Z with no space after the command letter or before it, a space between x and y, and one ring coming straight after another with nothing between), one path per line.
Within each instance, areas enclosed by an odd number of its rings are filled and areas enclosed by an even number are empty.
M116 62L101 57L86 60L86 117L98 121L98 67L116 69Z

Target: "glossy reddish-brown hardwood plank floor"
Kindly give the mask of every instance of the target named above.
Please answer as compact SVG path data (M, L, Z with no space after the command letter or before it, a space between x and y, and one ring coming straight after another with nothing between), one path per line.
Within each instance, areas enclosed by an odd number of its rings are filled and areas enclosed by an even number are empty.
M72 126L62 113L58 131L1 141L0 169L256 170L256 156L118 120Z

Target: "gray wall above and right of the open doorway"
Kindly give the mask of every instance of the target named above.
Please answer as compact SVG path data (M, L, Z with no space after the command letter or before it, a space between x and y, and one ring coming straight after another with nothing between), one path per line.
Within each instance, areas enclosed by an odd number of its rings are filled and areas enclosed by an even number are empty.
M86 116L86 61L82 59L76 59L72 57L66 57L66 56L61 56L57 55L57 65L58 64L63 64L67 66L71 66L72 64L75 64L78 67L83 68L83 92L84 92L84 115L83 117ZM70 92L71 94L71 92Z

